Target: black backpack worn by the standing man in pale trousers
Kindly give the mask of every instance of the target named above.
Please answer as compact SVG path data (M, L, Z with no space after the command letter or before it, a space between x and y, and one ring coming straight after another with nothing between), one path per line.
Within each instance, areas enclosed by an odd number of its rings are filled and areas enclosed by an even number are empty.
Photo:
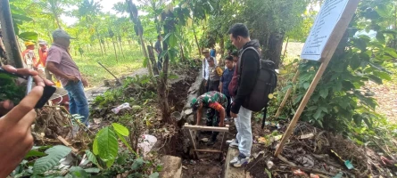
M247 50L255 51L261 59L261 55L258 51L253 47L247 47L240 53L240 60L238 61L238 75L241 76L241 72L243 70L241 62L241 56ZM258 77L256 80L256 84L252 89L252 93L249 97L245 99L243 102L243 107L246 109L250 109L254 112L259 112L263 109L263 119L262 119L262 129L265 126L266 114L268 112L268 103L270 101L270 95L273 95L273 92L277 86L277 74L276 74L276 65L273 61L269 60L260 60L260 70L258 72ZM238 81L240 83L240 81Z

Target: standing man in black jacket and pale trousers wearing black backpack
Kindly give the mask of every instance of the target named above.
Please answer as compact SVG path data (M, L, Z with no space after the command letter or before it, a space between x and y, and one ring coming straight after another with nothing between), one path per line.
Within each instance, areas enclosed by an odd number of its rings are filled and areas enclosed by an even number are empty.
M266 112L277 77L272 62L261 60L260 44L257 40L251 40L244 24L236 23L228 30L228 34L232 44L239 49L235 74L228 90L233 98L230 115L236 118L237 128L236 140L230 146L238 145L240 154L230 161L230 165L240 167L248 164L251 156L252 111L264 109Z

